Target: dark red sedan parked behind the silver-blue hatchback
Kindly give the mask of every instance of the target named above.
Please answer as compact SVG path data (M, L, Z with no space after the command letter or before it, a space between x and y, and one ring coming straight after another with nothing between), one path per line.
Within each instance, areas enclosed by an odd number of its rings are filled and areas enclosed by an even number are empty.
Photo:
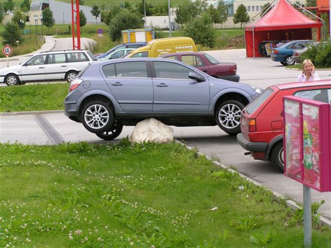
M201 52L170 53L160 58L178 60L192 65L208 75L233 82L239 82L236 63L219 62L213 56Z

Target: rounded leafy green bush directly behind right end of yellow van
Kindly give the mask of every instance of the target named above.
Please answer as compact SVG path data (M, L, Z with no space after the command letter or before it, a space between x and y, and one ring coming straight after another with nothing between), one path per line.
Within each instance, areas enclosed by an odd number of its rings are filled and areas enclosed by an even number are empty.
M213 28L212 18L207 12L203 12L190 22L185 24L184 36L194 38L196 43L203 46L213 47L215 44L216 34Z

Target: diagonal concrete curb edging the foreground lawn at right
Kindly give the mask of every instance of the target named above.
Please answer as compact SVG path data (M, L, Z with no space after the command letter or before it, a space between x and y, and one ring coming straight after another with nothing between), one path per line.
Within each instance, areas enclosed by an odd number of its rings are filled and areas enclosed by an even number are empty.
M180 141L178 141L178 140L176 140L176 142L177 142L177 143L180 143L181 145L186 146L186 148L189 149L189 150L192 150L192 149L193 149L192 147L190 147L190 146L188 146L188 145L185 145L184 143L182 143L182 142L180 142ZM238 173L239 176L241 176L243 179L245 179L245 180L247 180L247 181L253 183L253 184L256 185L256 186L259 186L259 187L265 187L265 186L263 186L262 184L256 182L255 180L253 180L253 179L251 179L251 178L249 178L249 177L246 177L246 176L243 175L242 173L240 173L240 172L238 172L238 171L236 171L236 170L234 170L234 169L231 169L231 168L229 168L228 166L223 165L223 164L221 164L221 163L218 162L218 161L213 161L213 160L212 160L208 155L206 155L206 154L203 154L203 153L201 153L201 152L198 152L198 154L199 154L199 155L203 155L203 156L205 156L208 160L210 160L211 162L213 162L215 165L221 166L221 168L223 168L223 169L225 169L225 170L228 170L228 171L230 171L230 172L232 172L232 173ZM265 188L267 188L267 187L265 187ZM276 196L277 198L279 198L279 199L284 199L284 198L285 198L285 197L284 197L283 195L281 195L280 193L278 193L278 192L276 192L276 191L274 191L274 190L272 190L272 189L270 189L270 188L267 188L267 189L270 190L270 191L273 193L273 195ZM285 201L286 201L286 205L287 205L287 207L290 207L290 208L292 208L293 210L296 210L296 209L302 208L302 207L300 207L296 202L294 202L294 201L292 201L292 200L285 200ZM331 220L329 220L329 219L327 219L327 218L325 218L325 217L323 217L323 216L320 216L319 219L320 219L320 222L321 222L322 225L325 225L325 226L329 226L329 227L331 227Z

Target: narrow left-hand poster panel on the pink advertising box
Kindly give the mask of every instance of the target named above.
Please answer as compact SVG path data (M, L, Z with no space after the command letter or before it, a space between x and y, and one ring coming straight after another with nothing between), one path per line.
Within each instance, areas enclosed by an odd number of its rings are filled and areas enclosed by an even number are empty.
M285 107L285 153L286 153L286 175L291 178L301 179L301 124L299 103L287 101Z

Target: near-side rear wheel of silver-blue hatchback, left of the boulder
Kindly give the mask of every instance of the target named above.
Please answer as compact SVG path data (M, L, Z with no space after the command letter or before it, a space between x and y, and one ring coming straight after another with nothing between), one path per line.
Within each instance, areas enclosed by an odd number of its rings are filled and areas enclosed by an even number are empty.
M113 113L108 103L93 101L86 104L81 113L84 127L92 133L103 133L114 123Z

